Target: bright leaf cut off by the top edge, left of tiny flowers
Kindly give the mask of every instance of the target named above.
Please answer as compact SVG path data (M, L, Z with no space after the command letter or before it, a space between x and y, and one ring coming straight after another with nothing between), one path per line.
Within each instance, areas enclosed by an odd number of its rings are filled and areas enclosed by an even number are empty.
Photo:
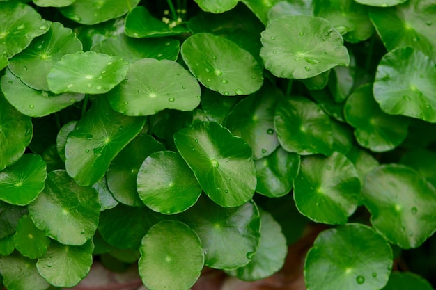
M75 22L92 25L125 15L138 3L139 0L76 0L59 11Z

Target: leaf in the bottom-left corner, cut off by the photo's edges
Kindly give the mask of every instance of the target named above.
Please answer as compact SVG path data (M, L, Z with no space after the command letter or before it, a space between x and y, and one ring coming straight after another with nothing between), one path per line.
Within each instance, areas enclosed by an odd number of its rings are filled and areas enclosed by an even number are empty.
M45 290L50 286L38 273L36 261L22 257L17 252L0 256L0 274L8 290Z

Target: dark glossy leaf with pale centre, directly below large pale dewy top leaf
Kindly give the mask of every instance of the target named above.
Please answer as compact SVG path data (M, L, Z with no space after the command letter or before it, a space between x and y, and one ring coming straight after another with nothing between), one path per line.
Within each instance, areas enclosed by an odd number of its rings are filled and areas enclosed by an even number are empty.
M332 154L330 118L304 97L281 99L276 107L274 128L284 150L300 155Z

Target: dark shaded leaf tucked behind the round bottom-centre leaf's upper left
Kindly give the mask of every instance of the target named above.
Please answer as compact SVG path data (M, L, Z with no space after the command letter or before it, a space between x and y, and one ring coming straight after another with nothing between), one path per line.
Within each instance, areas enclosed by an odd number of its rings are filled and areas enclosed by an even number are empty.
M138 249L148 229L162 220L146 207L127 207L118 204L102 211L98 231L110 245L120 249Z

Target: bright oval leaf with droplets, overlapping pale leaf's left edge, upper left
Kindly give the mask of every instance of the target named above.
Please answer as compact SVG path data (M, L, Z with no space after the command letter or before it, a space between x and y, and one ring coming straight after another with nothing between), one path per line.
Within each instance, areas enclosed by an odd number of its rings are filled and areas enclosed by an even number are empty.
M117 56L94 51L66 54L54 64L47 81L55 94L80 92L103 94L123 81L129 64Z

